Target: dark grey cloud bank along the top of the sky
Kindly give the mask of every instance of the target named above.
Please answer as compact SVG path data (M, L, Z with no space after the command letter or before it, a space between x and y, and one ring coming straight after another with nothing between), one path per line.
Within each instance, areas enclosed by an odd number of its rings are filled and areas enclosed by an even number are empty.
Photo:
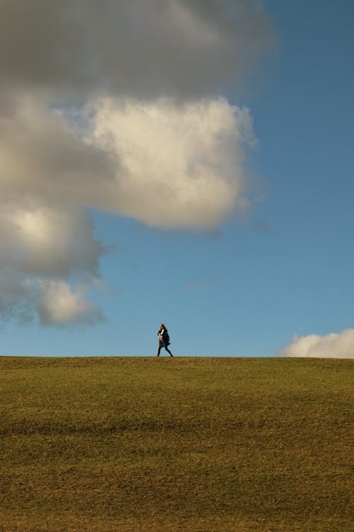
M0 0L0 84L190 99L234 86L270 35L259 0Z

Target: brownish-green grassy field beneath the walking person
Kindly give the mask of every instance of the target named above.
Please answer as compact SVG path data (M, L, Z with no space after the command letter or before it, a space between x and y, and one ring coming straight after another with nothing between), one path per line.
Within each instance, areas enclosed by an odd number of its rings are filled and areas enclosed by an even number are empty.
M353 531L353 361L0 357L0 530Z

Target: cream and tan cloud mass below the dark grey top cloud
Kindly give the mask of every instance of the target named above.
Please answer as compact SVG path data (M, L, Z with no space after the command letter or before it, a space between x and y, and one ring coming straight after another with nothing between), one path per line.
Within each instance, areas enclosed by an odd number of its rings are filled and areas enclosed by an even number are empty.
M99 276L104 246L93 237L90 207L184 229L215 228L247 207L248 109L222 98L106 98L76 109L85 136L67 117L33 98L0 116L0 270L12 271L3 318L18 306L21 319L33 311L42 323L69 323L47 303L33 304L33 286ZM88 321L86 311L67 315Z

